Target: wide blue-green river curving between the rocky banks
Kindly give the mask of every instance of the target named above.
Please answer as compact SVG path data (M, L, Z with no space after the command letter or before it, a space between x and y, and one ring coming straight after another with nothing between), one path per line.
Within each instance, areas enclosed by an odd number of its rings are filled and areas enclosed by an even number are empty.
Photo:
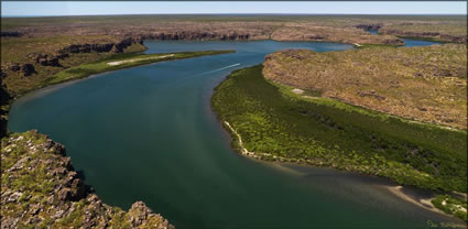
M431 43L424 43L431 44ZM342 51L312 42L145 42L146 53L236 50L99 74L14 102L11 131L63 143L105 203L143 200L176 228L427 228L446 217L384 188L378 177L253 161L233 152L210 109L231 70L283 48Z

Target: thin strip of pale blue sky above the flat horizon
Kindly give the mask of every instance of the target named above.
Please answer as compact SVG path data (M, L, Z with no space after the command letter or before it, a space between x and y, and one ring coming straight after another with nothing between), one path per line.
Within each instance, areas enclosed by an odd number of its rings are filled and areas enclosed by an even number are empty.
M2 17L172 13L467 14L467 2L1 2Z

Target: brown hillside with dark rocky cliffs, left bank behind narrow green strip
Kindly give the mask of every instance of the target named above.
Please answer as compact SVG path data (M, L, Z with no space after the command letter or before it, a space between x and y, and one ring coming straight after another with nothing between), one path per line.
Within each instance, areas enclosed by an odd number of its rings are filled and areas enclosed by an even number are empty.
M116 53L144 51L142 40L109 35L2 37L1 74L7 91L17 96L41 86L47 77Z

